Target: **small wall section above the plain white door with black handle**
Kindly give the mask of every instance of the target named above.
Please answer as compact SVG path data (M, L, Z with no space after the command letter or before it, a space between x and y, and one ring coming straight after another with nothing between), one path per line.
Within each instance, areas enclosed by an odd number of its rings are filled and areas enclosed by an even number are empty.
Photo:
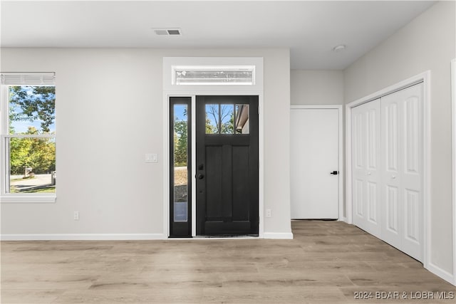
M343 105L343 70L291 70L291 105Z

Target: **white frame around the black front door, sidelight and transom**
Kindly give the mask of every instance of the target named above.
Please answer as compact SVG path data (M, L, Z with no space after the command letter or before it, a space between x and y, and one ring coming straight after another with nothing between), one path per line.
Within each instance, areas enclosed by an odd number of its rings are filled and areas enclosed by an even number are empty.
M173 65L255 65L254 85L172 85ZM264 94L263 94L263 58L232 57L164 57L163 58L163 234L170 236L170 97L187 96L192 98L192 130L196 130L195 96L197 95L257 95L259 103L258 117L258 237L264 239ZM196 133L192 132L192 172L196 163ZM194 174L193 174L194 175ZM192 182L192 236L196 236L196 183ZM195 239L195 238L193 238ZM188 240L188 239L186 239Z

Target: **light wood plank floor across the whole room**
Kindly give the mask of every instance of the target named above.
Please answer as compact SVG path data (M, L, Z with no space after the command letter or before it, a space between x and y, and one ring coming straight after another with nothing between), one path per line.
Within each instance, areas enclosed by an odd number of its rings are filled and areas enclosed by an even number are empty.
M456 303L435 299L454 286L355 226L292 228L293 240L2 241L1 303Z

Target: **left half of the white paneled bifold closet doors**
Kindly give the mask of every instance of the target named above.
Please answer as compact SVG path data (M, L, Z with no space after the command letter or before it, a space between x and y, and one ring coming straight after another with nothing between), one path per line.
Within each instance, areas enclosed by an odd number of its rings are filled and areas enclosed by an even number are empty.
M352 110L353 224L380 234L380 99Z

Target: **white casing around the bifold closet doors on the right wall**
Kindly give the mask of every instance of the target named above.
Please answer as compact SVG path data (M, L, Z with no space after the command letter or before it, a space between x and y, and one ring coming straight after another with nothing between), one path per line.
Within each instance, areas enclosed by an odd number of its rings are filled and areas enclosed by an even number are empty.
M390 85L388 88L379 90L346 105L346 221L348 224L353 224L353 201L351 193L351 110L357 105L368 103L417 83L423 83L423 266L440 276L438 269L430 263L430 70L395 85Z

